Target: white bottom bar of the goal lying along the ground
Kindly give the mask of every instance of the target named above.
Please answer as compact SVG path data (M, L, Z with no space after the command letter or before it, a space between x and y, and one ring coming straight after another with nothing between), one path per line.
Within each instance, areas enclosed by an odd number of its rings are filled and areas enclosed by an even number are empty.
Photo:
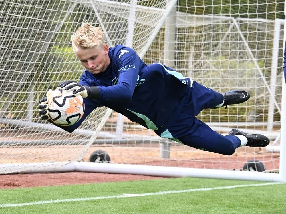
M269 181L269 182L286 182L281 173L257 173L253 171L231 171L217 169L195 169L184 167L164 167L164 166L146 166L132 164L116 163L91 163L91 162L74 162L66 163L59 168L41 169L43 165L49 167L47 163L22 163L21 167L38 168L38 170L27 170L21 173L52 173L52 172L93 172L93 173L111 173L111 174L133 174L149 175L160 177L202 177L218 179L234 179L247 181ZM53 163L52 166L54 166ZM59 163L61 165L62 163ZM1 167L19 167L19 164L0 164Z

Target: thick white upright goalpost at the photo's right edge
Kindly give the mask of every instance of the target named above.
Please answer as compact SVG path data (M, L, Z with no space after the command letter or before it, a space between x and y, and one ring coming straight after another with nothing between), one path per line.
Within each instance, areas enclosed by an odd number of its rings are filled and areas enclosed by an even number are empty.
M286 17L286 1L284 2L284 16ZM286 136L285 136L285 129L286 129L286 83L285 83L285 74L286 74L286 48L285 48L285 36L286 36L286 19L284 19L284 36L283 36L283 72L282 72L282 101L281 101L281 138L280 138L280 164L279 164L279 174L281 176L281 180L286 182Z

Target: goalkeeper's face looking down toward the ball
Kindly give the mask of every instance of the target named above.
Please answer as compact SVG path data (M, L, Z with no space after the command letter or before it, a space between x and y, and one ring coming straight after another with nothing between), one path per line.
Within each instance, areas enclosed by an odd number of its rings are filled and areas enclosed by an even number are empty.
M103 48L78 49L76 56L82 65L91 73L98 74L108 67L110 59L108 56L108 46Z

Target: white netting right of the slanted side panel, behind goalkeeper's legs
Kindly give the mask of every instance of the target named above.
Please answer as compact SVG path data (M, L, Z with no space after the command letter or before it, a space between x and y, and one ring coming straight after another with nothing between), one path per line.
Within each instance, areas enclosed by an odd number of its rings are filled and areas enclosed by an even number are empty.
M204 10L207 3L204 6L197 6L198 1L194 3L196 6L188 3L180 2L176 12L168 15L144 55L144 61L147 64L165 63L221 93L237 88L250 91L251 99L246 103L227 109L206 109L198 118L222 134L233 128L262 133L271 139L270 145L265 148L241 147L232 156L206 153L164 139L147 140L148 136L156 135L125 118L123 133L126 139L116 141L102 136L106 141L93 145L85 160L92 151L102 149L115 163L232 170L242 169L246 161L257 159L263 162L267 171L278 170L283 3L267 5L275 6L275 13L260 9L257 10L259 15L256 11L240 16L214 13L221 12L219 5L208 5L209 9ZM240 5L221 6L240 8ZM263 4L256 6L260 8ZM113 113L102 131L116 133L119 128L116 116Z

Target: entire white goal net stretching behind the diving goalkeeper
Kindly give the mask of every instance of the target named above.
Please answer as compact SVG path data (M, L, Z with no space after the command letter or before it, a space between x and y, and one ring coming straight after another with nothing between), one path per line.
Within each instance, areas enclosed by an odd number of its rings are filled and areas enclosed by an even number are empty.
M96 150L118 164L231 173L255 159L264 172L279 171L284 4L215 2L0 0L0 173L88 162ZM47 90L78 81L84 71L70 42L84 21L102 27L110 47L132 47L146 64L162 62L220 93L250 91L246 103L206 109L198 119L221 134L264 134L270 145L208 153L160 138L106 107L74 133L42 121L37 105Z

